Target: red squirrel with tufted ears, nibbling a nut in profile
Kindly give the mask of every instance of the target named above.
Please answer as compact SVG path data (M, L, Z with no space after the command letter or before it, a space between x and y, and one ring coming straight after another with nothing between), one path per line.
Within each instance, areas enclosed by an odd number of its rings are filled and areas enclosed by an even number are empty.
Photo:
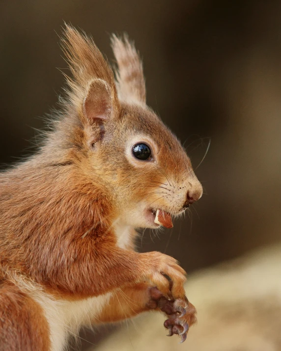
M61 351L82 326L149 310L183 342L197 320L186 272L137 252L135 228L171 227L202 186L146 105L128 37L112 35L114 70L84 32L66 25L61 40L61 110L37 152L0 173L0 351Z

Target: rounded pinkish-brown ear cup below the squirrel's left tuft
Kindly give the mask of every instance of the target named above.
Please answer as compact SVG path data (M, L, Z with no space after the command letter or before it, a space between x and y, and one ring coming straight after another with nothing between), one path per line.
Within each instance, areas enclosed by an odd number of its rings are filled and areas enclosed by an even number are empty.
M83 114L87 122L99 125L112 115L111 88L106 81L95 79L91 81L84 99Z

